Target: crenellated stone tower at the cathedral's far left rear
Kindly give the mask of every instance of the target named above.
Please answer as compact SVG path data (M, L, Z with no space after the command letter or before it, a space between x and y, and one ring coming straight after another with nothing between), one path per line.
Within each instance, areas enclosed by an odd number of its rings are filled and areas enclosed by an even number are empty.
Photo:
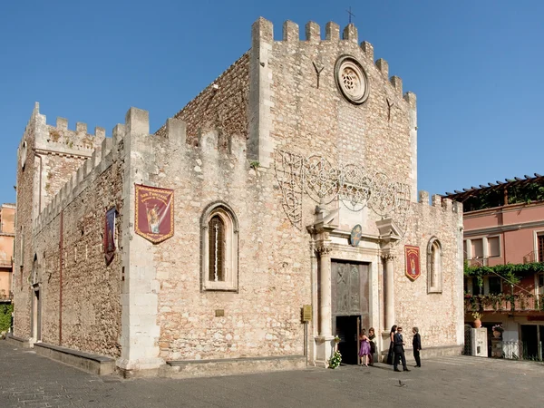
M38 253L34 245L36 219L55 197L60 197L61 189L65 188L85 158L91 158L93 151L98 151L98 157L101 157L103 140L102 128L96 128L94 135L88 134L84 123L76 123L75 131L68 130L68 122L62 118L57 119L56 126L48 125L45 115L39 111L39 104L35 104L18 149L15 335L32 335L30 316L34 292L30 285L34 256ZM83 172L80 175L80 180L83 180Z

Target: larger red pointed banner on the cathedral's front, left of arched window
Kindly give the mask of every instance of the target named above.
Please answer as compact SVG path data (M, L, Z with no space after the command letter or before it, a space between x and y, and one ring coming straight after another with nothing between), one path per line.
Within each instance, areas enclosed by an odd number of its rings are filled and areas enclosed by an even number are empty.
M157 244L174 235L174 190L136 187L136 222L134 230Z

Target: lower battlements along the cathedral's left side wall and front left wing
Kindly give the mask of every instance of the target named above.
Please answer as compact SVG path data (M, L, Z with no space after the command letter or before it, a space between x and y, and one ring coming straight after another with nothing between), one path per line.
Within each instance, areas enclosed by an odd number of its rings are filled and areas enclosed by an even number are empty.
M57 123L57 127L54 129L58 128ZM53 197L38 218L34 220L34 232L40 231L44 226L49 224L60 214L63 208L81 194L83 189L88 188L93 180L96 180L103 171L107 170L114 160L120 159L121 141L125 141L127 138L131 138L134 141L141 141L141 138L149 138L149 142L146 139L144 144L146 149L151 149L151 151L162 151L165 149L171 151L186 150L193 151L201 157L214 157L222 153L239 161L245 160L245 142L238 139L230 139L226 149L223 149L224 146L220 142L222 135L218 130L202 132L199 134L197 146L190 146L186 143L187 125L184 121L170 118L166 121L163 129L164 131L160 133L160 136L150 134L149 113L137 108L131 108L125 116L125 123L117 124L113 128L112 138L102 138L100 148L92 151L91 157L85 160L78 170L73 172L70 180L63 185L62 189ZM139 143L136 142L131 149L139 149ZM131 151L125 150L124 154L130 155ZM124 160L121 159L121 161Z

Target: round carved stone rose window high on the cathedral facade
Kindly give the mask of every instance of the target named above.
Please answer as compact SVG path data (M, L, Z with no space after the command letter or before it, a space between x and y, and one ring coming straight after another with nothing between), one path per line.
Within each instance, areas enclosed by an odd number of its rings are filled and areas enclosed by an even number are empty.
M342 55L336 60L335 80L349 102L360 105L368 98L368 78L361 63L353 56Z

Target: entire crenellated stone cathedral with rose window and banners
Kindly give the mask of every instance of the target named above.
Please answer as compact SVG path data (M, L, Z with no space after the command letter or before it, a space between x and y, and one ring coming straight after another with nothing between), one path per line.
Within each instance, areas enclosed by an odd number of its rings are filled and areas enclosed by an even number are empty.
M259 18L154 133L140 109L106 137L36 103L13 340L125 376L356 364L359 331L382 353L395 324L460 352L462 210L417 192L415 95L355 25L305 31Z

